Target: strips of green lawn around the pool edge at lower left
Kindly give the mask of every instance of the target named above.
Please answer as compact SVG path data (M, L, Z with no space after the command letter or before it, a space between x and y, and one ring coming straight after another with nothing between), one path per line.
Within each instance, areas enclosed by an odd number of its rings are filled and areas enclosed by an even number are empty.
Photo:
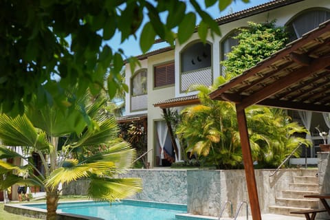
M86 196L80 196L80 195L67 195L67 196L61 196L59 202L61 201L77 201L77 200L85 200L87 199ZM32 199L30 202L21 202L21 203L36 203L36 202L46 202L46 199ZM18 203L18 202L10 202L11 204ZM0 219L5 219L5 220L33 220L34 218L29 218L29 217L23 217L18 214L12 214L9 212L6 212L3 210L4 203L0 203Z

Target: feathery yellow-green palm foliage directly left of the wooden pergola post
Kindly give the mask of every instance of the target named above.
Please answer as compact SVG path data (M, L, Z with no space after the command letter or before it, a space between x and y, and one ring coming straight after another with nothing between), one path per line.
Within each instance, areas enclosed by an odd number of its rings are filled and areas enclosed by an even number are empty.
M224 81L219 77L212 87L195 85L190 88L199 91L201 104L182 111L177 135L188 143L187 151L201 156L206 164L234 168L242 161L234 104L211 100L208 96Z

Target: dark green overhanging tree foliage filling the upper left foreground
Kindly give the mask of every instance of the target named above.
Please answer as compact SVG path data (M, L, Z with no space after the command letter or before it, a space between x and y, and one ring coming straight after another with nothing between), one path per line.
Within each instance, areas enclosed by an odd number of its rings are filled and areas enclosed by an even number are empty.
M231 0L204 3L206 7L218 3L224 10ZM69 96L82 96L87 88L98 94L104 80L110 98L118 89L127 91L120 70L124 60L132 68L137 60L113 50L108 41L115 34L121 34L124 42L142 30L142 52L151 48L155 38L170 45L175 38L184 43L195 32L197 16L202 19L198 24L202 41L209 30L220 34L217 23L196 0L5 0L0 14L0 104L1 111L12 115L23 114L33 94L39 107L47 103L64 109L74 104ZM78 85L78 91L67 94L72 85Z

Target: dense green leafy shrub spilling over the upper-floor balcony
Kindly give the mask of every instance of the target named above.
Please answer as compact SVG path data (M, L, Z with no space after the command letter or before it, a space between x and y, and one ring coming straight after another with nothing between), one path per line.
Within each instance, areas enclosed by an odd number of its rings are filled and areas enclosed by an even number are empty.
M221 65L225 67L226 78L242 74L285 46L288 34L283 27L276 27L275 21L265 23L249 22L248 28L239 28L234 39L239 45L232 47Z

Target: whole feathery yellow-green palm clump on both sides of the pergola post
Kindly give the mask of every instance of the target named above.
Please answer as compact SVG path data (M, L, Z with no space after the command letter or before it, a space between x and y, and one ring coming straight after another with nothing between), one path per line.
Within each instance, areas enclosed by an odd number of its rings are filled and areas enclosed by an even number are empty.
M187 151L196 153L207 164L219 168L241 166L241 142L236 121L236 109L230 102L211 100L208 96L223 83L216 80L212 87L195 85L201 104L187 107L177 129L179 138L188 142ZM310 146L309 140L297 137L308 131L291 122L281 109L250 107L245 110L248 122L252 157L259 165L268 168L278 166L299 144ZM296 151L296 156L299 151Z

